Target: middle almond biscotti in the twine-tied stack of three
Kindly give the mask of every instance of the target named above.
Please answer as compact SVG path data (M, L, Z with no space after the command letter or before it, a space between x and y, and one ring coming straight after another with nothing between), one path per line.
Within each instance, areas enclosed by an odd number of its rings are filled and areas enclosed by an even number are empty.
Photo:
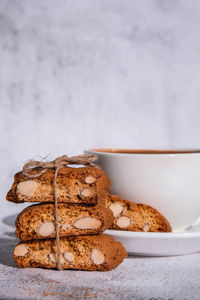
M59 236L99 234L113 223L113 214L104 206L58 204ZM54 204L42 203L25 208L17 217L16 235L21 240L53 238Z

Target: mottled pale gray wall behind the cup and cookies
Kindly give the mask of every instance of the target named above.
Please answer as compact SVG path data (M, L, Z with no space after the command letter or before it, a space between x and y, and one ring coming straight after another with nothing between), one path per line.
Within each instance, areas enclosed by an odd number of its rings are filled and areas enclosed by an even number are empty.
M89 147L199 147L198 0L1 0L1 197Z

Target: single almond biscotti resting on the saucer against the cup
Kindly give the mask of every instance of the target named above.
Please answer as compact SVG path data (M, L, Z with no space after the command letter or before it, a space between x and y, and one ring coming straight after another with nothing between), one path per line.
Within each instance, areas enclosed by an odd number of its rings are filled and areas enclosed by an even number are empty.
M172 231L166 218L149 205L133 203L119 196L109 195L106 198L106 206L114 215L114 222L110 229L143 232Z

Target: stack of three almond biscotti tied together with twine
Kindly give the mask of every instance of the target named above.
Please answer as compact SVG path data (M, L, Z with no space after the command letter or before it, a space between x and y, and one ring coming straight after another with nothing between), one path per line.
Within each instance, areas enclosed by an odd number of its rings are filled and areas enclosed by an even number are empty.
M31 174L37 173L37 168ZM29 179L19 172L7 194L15 203L40 202L25 208L16 219L16 235L21 239L14 249L19 267L56 268L57 247L54 209L55 170ZM106 208L110 180L95 167L60 168L57 200L62 269L111 270L127 256L120 242L102 234L114 217Z

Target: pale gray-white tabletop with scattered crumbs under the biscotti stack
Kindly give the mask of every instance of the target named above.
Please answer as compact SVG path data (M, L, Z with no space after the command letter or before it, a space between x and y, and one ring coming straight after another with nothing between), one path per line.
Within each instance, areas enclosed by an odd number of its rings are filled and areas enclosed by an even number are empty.
M128 257L109 272L16 268L16 213L9 204L0 229L0 299L200 299L200 253Z

